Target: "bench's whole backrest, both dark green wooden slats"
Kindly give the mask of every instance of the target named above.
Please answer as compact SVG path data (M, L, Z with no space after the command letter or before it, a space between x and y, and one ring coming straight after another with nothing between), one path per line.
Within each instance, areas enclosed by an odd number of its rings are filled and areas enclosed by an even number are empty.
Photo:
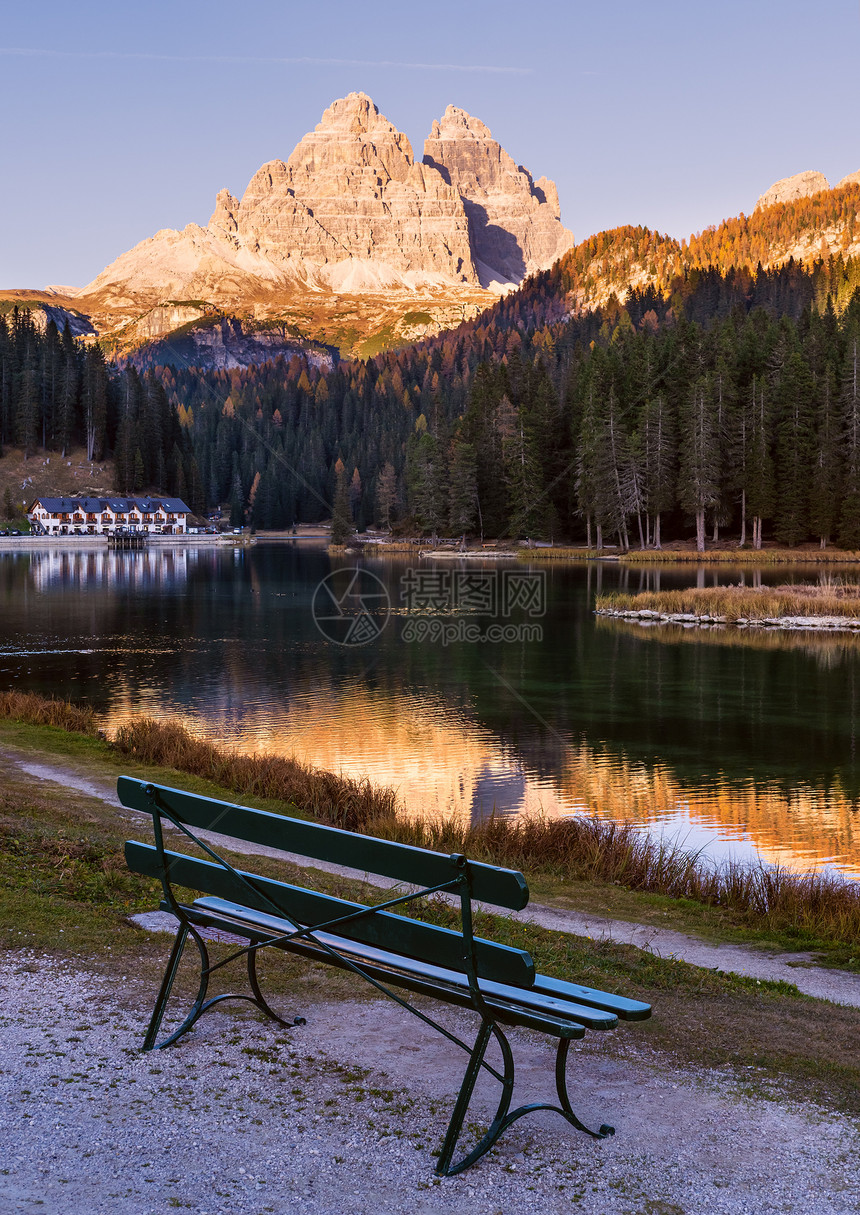
M509 908L524 906L528 899L525 878L513 870L499 870L474 861L463 865L456 857L424 848L353 835L318 823L219 802L129 776L120 776L117 787L123 806L151 813L160 823L172 820L182 824L194 838L194 832L213 832L379 874L423 889L452 883L454 894L457 889L453 883L465 872L471 894L476 898ZM157 832L157 837L159 833ZM179 840L181 838L180 836ZM460 973L466 970L463 933L391 911L372 911L349 920L343 926L329 927L334 920L362 912L363 904L261 877L244 869L233 869L217 859L202 860L137 841L126 843L125 855L132 871L162 880L165 898L171 904L181 903L174 887L187 887L267 915L282 915L311 928L326 926L327 931L335 934L406 954L431 965ZM498 983L531 987L534 963L525 950L498 945L479 937L471 940L479 976Z

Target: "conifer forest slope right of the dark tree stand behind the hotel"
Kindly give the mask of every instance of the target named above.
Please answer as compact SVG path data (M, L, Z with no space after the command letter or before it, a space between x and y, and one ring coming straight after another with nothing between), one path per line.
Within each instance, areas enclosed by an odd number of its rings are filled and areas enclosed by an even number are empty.
M700 276L692 311L731 296L718 278ZM634 299L328 375L294 361L165 386L210 499L264 527L329 514L341 460L360 526L622 546L706 525L760 544L768 527L860 547L860 295L837 317L814 287L790 267L757 279L770 307L709 326Z

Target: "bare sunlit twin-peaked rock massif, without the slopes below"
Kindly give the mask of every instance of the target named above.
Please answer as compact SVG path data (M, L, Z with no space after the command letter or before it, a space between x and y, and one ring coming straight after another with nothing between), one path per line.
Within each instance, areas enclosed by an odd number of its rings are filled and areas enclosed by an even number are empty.
M483 123L449 106L424 162L373 101L335 101L242 199L217 194L206 227L164 230L80 295L254 303L300 284L386 292L519 283L572 244L555 186L533 181Z

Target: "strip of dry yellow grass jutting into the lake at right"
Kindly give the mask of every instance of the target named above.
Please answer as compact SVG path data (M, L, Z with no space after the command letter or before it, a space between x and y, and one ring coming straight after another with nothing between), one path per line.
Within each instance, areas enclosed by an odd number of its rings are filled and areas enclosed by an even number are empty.
M688 587L683 590L610 592L598 595L596 611L656 611L762 621L796 616L860 618L860 586L796 584L783 587Z

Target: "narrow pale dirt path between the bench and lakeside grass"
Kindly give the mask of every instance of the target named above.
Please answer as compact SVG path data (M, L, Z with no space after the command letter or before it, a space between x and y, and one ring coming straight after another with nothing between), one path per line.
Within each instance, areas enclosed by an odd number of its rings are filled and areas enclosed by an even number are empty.
M33 753L23 748L2 744L0 757L12 763L19 772L36 779L47 780L64 785L107 802L111 806L119 806L115 791L115 780L111 775L94 774L85 764L69 761L58 763L55 757L35 759ZM130 818L136 815L134 810L123 810ZM222 837L211 835L214 843L222 842ZM231 841L234 850L244 852L248 855L278 857L275 849L260 848L255 844L237 846ZM305 868L309 863L302 857L292 855L289 858L298 865ZM336 865L328 865L323 861L315 861L312 868L327 872L347 874ZM364 875L367 881L389 888L394 883L387 878L375 875ZM525 911L511 912L516 919L526 920L530 923L541 925L555 932L570 932L578 937L593 937L596 940L615 940L623 944L635 945L639 949L650 949L662 957L677 957L680 961L691 962L707 970L729 971L736 974L746 974L757 979L774 979L793 983L798 990L805 995L816 996L821 1000L831 1000L834 1004L860 1007L860 974L848 971L828 970L814 963L809 954L776 953L773 950L757 949L746 945L713 944L695 936L675 932L668 928L657 928L650 925L630 923L626 920L610 920L601 916L583 915L578 911L561 910L541 904L530 904Z

